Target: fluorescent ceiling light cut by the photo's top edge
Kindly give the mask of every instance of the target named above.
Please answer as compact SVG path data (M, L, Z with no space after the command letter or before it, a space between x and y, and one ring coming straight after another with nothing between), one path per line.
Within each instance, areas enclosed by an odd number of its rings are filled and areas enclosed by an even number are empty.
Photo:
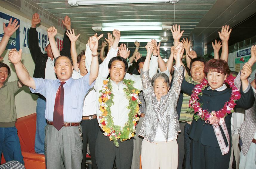
M101 4L177 3L179 0L69 0L70 6Z

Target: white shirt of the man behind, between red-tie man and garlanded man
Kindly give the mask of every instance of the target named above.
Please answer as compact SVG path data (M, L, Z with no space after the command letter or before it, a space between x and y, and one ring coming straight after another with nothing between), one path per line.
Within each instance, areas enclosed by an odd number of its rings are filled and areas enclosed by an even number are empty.
M79 79L81 77L83 76L80 74L80 70L78 72L73 70L73 79ZM83 116L90 116L94 114L96 114L96 92L92 88L89 90L84 98Z

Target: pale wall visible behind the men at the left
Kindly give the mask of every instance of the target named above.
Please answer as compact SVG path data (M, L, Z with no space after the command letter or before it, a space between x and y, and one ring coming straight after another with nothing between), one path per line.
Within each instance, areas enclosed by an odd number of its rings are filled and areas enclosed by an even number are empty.
M13 17L16 17L18 19L20 19L23 22L26 22L27 24L31 24L31 20L24 18L20 15L17 15L16 13L13 13L12 11L6 10L3 7L0 7L0 11L2 13L5 13L7 15L11 15ZM32 16L31 16L32 18ZM3 24L0 24L0 26L2 26ZM55 26L55 25L53 25ZM44 27L43 25L40 25L40 28L43 30L47 30L47 27ZM23 30L20 30L20 33ZM59 37L63 38L62 34L58 35ZM23 43L22 41L20 41L20 43ZM77 42L77 52L81 52L82 49L85 49L86 46L83 43L80 43L79 41ZM10 63L8 61L8 52L9 50L5 50L4 53L1 55L1 57L4 57L3 63L6 63L8 66L10 66L11 69L11 74L8 77L8 81L14 81L17 80L17 76L15 73L15 69L12 63ZM35 64L32 60L32 57L30 55L29 51L25 51L22 53L22 62L25 65L25 67L27 68L30 76L33 76L34 73L34 69L35 69ZM33 114L36 112L36 100L37 100L37 96L35 94L30 94L30 90L27 86L24 86L21 90L19 90L19 92L16 94L15 96L15 102L16 102L16 110L17 110L17 117L24 117L30 114Z

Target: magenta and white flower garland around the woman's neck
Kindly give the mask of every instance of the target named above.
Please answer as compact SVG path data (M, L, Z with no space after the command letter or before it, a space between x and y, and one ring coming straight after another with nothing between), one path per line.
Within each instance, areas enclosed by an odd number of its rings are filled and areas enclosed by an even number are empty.
M209 113L207 110L202 109L202 105L199 103L198 95L202 96L202 90L208 86L208 81L203 79L201 84L195 86L192 91L191 98L189 100L189 109L190 112L194 112L194 119L197 121L198 119L204 120L205 123L209 124L219 124L221 118L226 117L227 114L234 112L234 107L236 105L235 101L240 99L241 94L238 88L234 85L235 77L229 75L229 77L225 80L225 82L232 88L231 97L229 101L224 104L224 107L219 111L212 111ZM198 114L196 114L198 112Z

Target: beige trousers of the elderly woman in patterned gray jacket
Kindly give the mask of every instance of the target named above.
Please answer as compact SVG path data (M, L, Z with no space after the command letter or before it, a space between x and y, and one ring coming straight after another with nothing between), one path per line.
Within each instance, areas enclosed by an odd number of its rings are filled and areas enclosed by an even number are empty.
M141 145L142 169L177 169L178 144L176 139L164 142L149 142L143 139Z

